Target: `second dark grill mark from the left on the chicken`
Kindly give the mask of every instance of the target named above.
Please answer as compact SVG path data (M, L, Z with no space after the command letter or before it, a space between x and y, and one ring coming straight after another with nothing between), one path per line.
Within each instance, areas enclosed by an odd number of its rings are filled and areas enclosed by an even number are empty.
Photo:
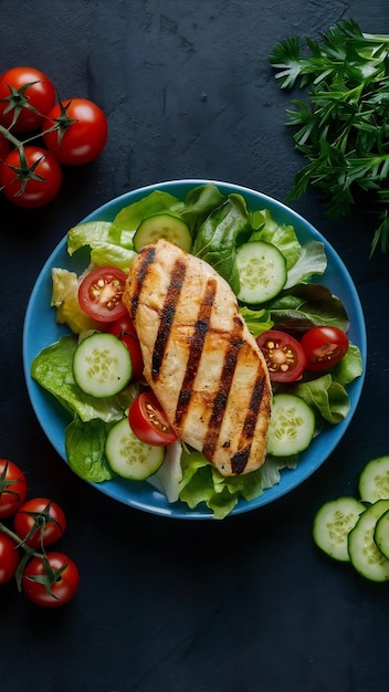
M159 370L164 361L166 346L169 340L169 334L175 319L176 306L182 289L186 271L186 263L181 260L176 260L170 273L170 283L161 311L158 334L153 352L151 377L154 381L158 379Z

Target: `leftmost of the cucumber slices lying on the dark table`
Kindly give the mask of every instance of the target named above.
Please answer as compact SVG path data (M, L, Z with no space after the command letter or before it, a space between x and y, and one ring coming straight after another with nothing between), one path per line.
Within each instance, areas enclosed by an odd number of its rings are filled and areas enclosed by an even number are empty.
M355 497L338 497L326 502L315 515L313 538L324 553L348 563L348 534L366 506Z

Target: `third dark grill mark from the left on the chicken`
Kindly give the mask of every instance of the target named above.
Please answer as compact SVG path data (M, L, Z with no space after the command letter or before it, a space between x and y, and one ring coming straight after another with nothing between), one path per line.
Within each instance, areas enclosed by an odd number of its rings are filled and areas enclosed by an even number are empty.
M195 331L190 339L189 356L181 390L178 397L175 423L182 426L188 413L188 407L193 394L195 377L199 367L206 336L209 332L213 301L217 292L217 282L210 279L207 282L204 297L200 305L199 315L195 323Z

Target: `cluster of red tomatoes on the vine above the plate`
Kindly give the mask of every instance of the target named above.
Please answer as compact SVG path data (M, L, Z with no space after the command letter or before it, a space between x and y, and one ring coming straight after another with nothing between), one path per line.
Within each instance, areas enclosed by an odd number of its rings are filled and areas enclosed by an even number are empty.
M93 161L108 135L103 111L87 98L61 101L35 67L0 75L0 189L18 207L51 202L61 189L62 165Z

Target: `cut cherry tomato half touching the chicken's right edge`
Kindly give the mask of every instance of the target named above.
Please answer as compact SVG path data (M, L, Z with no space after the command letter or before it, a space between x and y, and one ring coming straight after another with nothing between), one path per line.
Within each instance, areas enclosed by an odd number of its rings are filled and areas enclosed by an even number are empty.
M256 337L274 382L294 382L305 370L306 358L297 339L286 332L269 329Z

